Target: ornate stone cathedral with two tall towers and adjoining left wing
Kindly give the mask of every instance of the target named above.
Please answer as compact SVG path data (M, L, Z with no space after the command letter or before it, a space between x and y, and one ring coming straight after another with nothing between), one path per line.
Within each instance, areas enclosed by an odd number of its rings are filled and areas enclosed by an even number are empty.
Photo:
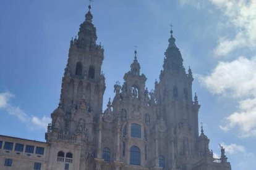
M0 169L230 170L224 148L220 159L213 158L210 140L198 129L194 78L183 66L172 30L155 89L145 87L135 51L124 83L114 85L114 99L102 111L104 49L96 44L90 9L70 41L46 142L0 136Z

